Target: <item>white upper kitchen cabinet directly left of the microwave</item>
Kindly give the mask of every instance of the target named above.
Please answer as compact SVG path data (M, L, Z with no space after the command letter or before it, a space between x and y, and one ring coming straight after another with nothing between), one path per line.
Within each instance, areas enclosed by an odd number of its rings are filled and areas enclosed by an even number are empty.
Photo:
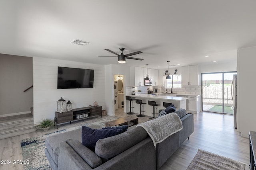
M142 67L130 67L130 81L131 86L144 86L144 68Z

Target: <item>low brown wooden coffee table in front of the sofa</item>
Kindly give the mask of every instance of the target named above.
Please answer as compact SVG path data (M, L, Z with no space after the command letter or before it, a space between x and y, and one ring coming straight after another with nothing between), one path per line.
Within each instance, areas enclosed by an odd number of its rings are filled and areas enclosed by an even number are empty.
M127 117L122 117L120 119L106 122L106 127L121 126L121 125L128 125L130 127L133 125L138 125L138 123L139 123L138 118L134 118L132 116L127 116Z

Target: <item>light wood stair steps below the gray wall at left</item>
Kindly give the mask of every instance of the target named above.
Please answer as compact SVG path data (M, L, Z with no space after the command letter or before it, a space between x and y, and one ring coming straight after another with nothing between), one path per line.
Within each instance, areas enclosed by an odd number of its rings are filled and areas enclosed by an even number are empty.
M34 118L31 113L0 118L0 139L34 131L36 131L36 125L34 125Z

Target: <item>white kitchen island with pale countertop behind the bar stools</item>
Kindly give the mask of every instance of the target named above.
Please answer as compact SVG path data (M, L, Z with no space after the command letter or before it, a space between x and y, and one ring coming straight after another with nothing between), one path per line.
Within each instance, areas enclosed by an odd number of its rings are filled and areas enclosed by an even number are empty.
M132 99L140 99L142 100L142 114L147 116L153 116L153 106L148 105L148 100L155 101L156 104L160 104L160 106L155 107L155 112L158 113L159 109L164 109L163 102L172 103L176 107L176 109L186 109L186 100L188 98L175 97L175 96L157 96L150 94L136 94L136 95L126 95L132 97ZM130 110L130 102L126 100L126 107ZM140 114L140 104L136 104L135 100L132 101L132 112ZM157 115L155 115L157 117Z

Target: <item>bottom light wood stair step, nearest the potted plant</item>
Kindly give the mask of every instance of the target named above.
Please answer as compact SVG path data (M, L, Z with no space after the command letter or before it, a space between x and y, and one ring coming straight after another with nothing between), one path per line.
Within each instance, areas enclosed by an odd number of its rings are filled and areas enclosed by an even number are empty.
M10 129L4 129L4 130L0 130L0 139L23 135L23 134L31 133L35 131L36 131L36 125L34 124L13 127Z

